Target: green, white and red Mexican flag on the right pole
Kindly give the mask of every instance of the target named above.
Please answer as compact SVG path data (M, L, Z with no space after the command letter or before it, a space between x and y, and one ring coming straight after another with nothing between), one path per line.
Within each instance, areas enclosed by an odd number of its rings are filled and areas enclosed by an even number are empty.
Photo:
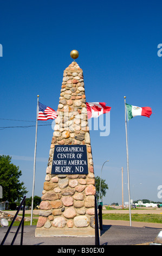
M151 107L137 107L128 105L126 103L126 109L128 114L128 120L136 117L137 115L144 115L144 117L150 117L150 115L152 114Z

